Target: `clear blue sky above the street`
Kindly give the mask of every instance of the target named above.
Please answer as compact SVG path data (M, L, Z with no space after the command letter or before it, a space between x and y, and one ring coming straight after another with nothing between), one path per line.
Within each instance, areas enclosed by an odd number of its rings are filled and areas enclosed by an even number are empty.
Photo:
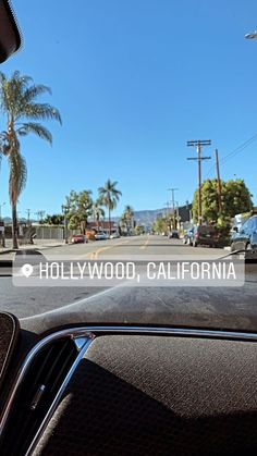
M20 217L60 212L71 189L110 177L123 196L117 209L156 209L178 187L197 184L187 139L211 139L220 158L257 133L255 0L13 0L23 50L1 70L19 69L51 87L63 125L51 122L53 146L25 138L27 186ZM1 125L2 127L2 125ZM203 176L213 164L203 165ZM221 165L221 177L246 181L257 204L257 140ZM215 170L209 173L215 176ZM8 168L0 172L8 205Z

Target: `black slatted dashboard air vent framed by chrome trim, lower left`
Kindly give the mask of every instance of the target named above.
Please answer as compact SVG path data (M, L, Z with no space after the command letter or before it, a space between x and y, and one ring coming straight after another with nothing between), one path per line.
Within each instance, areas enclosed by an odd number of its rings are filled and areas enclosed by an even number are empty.
M12 439L7 426L2 456L26 454L77 356L77 346L70 337L49 343L35 356L9 417L12 430L19 429L19 437Z

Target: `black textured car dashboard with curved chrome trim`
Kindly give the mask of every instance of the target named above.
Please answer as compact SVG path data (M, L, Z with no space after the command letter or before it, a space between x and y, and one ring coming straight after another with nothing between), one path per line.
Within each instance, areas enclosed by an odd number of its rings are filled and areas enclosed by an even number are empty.
M10 321L1 455L256 454L256 333Z

